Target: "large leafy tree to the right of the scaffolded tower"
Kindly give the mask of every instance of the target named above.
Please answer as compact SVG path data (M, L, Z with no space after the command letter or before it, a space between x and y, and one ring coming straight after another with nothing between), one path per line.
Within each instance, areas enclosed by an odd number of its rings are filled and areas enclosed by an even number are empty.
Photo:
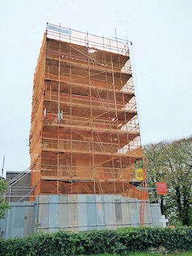
M144 146L144 157L148 158L148 187L150 197L157 198L155 182L167 184L168 195L160 195L162 214L170 223L191 223L191 181L192 181L192 136L176 141L163 141Z

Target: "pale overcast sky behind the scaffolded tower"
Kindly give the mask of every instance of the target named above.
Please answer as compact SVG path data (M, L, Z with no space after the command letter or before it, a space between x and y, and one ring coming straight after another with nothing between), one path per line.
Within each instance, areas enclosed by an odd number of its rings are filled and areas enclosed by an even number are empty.
M192 134L191 0L7 0L0 3L0 166L30 166L32 80L46 22L134 42L143 144Z

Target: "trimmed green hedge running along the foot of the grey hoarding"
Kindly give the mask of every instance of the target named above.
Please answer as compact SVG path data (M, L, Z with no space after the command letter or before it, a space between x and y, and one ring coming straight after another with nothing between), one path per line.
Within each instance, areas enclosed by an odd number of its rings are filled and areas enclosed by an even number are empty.
M34 233L26 238L0 239L0 255L97 255L145 252L165 247L168 252L192 249L192 227L176 229L122 228L92 232Z

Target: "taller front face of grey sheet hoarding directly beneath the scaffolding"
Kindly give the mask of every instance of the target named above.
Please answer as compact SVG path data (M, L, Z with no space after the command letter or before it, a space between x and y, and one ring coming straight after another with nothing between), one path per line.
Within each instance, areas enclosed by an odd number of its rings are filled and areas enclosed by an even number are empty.
M88 231L139 226L140 201L121 195L40 195L39 228ZM153 226L149 201L145 202L145 226Z

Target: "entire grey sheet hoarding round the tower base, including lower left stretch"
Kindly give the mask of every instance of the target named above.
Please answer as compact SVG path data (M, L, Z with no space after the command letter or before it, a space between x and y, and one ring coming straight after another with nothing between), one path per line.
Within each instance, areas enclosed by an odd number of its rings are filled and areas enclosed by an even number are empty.
M39 195L35 202L10 203L0 220L3 238L34 232L75 232L139 226L140 201L121 195ZM144 226L161 226L160 205L145 201Z

